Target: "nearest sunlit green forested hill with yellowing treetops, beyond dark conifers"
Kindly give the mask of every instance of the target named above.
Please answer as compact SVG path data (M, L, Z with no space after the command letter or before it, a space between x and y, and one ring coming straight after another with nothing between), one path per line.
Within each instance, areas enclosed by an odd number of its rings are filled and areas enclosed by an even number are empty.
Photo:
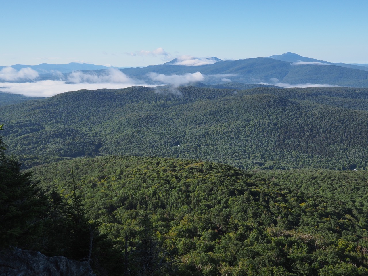
M84 216L105 237L92 259L108 264L110 275L368 273L365 171L254 173L106 156L36 167L34 179L50 198L61 195L56 214L63 200L81 199ZM57 250L52 241L44 251Z

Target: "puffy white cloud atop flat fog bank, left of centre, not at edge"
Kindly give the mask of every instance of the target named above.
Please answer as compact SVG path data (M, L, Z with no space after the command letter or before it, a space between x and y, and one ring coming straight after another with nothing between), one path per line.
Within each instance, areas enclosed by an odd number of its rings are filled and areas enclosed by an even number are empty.
M67 82L72 83L132 83L132 79L127 77L123 72L115 68L109 68L102 74L96 74L96 72L90 71L84 73L81 71L75 71L68 75Z

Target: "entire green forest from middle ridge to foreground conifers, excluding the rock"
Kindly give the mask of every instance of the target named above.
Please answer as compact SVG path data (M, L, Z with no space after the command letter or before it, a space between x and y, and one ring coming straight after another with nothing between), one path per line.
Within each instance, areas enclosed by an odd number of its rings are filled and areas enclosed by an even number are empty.
M0 248L102 276L368 275L367 92L131 87L3 106Z

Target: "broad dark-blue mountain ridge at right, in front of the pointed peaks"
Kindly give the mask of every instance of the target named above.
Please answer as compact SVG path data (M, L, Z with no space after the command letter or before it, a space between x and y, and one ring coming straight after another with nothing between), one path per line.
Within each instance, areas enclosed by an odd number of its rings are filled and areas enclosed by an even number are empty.
M289 55L287 55L289 56ZM296 55L297 57L300 57ZM365 70L348 68L332 63L311 59L300 62L299 59L283 61L274 58L251 58L241 60L217 61L200 66L173 65L174 62L147 66L143 68L121 69L124 74L152 83L150 74L183 75L200 72L204 75L204 84L212 85L224 82L244 84L272 84L289 87L296 84L323 84L332 86L368 87L367 67ZM282 57L284 58L284 57ZM158 82L153 82L159 84Z

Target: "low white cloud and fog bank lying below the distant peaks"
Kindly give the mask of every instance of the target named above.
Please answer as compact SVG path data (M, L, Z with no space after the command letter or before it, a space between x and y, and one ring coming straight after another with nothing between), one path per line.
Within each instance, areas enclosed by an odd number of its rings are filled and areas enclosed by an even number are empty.
M67 91L77 91L80 89L118 89L126 88L134 85L140 86L160 86L160 85L172 85L170 90L171 93L178 94L177 87L180 85L187 85L192 82L206 82L206 83L217 83L218 81L230 82L231 78L238 77L237 74L212 74L203 75L201 72L197 71L195 73L186 73L183 75L164 75L151 72L147 74L147 80L137 80L132 79L125 75L120 70L109 68L105 71L100 71L96 73L93 71L82 72L75 71L69 74L66 79L62 74L60 74L59 80L42 80L42 81L32 81L38 77L38 73L31 68L24 68L19 71L12 67L4 67L0 71L0 91L22 94L26 96L33 97L50 97L59 93ZM55 74L57 75L57 74ZM29 80L28 82L12 82L20 80ZM272 78L268 82L254 81L252 83L259 84L270 84L276 85L284 88L291 87L336 87L338 85L329 84L288 84L280 82L277 78Z

